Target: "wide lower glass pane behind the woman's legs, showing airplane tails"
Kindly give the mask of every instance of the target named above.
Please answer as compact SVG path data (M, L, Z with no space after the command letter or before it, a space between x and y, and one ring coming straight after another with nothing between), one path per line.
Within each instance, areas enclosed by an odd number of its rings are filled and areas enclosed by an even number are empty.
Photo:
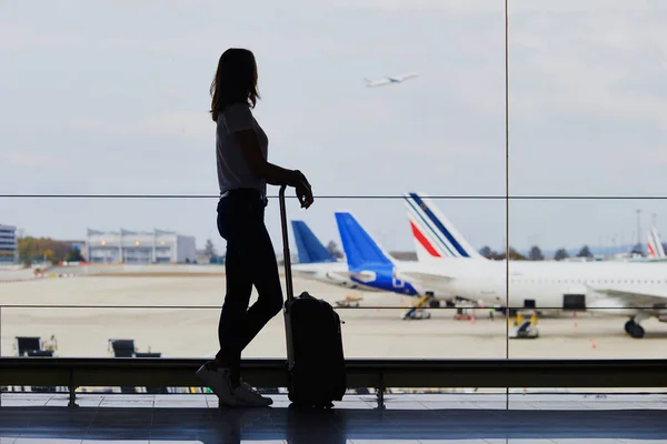
M131 340L131 350L165 357L213 356L226 293L225 241L217 233L216 202L1 200L4 213L17 214L22 261L8 271L21 280L2 284L2 355L19 353L17 337L39 336L38 350L57 342L60 356L111 356L110 340ZM489 303L491 296L480 293L485 289L467 294L465 287L449 285L454 269L448 264L467 263L471 259L461 256L477 255L478 246L458 234L442 209L451 209L457 222L468 221L474 234L480 233L480 218L502 220L502 206L485 200L428 200L421 194L321 199L302 211L289 199L289 219L302 222L289 226L295 292L308 291L340 309L348 357L505 356L506 326L494 310L501 303ZM282 262L275 198L266 222ZM297 234L312 239L296 242ZM480 240L490 243L502 232L482 235ZM209 240L215 263L206 251ZM81 258L67 261L76 249ZM311 263L318 251L339 261ZM56 263L46 269L44 259ZM431 262L437 264L432 270ZM502 273L498 269L492 281L500 281ZM432 297L422 299L427 292ZM256 296L253 292L251 302ZM245 356L286 356L281 315Z

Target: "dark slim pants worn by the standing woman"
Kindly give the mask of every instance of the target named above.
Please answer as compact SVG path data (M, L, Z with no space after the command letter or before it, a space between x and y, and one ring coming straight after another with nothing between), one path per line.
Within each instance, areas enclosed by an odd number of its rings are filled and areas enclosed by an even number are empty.
M265 226L265 202L253 190L235 190L218 203L218 231L227 240L227 295L216 357L238 383L241 352L282 309L278 263ZM248 309L252 285L258 300Z

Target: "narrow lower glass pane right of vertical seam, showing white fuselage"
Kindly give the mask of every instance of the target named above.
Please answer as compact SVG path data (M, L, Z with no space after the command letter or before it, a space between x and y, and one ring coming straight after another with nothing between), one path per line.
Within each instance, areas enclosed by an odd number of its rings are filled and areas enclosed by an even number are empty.
M510 265L510 304L522 312L511 329L535 329L539 339L512 339L510 357L664 357L657 345L667 336L667 269L648 256L661 246L660 224L636 212L659 214L661 206L661 200L514 201L510 240L525 260Z

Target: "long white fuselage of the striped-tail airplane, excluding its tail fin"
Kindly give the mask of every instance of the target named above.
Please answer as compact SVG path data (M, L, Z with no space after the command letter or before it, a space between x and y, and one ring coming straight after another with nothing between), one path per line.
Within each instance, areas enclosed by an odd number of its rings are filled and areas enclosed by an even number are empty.
M489 305L507 304L505 261L437 259L412 270L430 270L442 279L431 279L426 286L436 292ZM400 273L400 270L399 270ZM509 262L509 305L536 306L546 310L591 310L608 314L636 314L639 309L658 310L641 304L628 304L614 292L649 294L667 302L667 265L631 262ZM639 297L639 296L638 296ZM583 305L583 306L579 306ZM610 309L610 310L605 310Z

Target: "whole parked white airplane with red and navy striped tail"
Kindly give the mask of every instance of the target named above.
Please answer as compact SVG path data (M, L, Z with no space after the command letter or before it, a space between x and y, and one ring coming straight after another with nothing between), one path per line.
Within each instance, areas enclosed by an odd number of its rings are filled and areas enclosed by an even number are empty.
M667 322L667 265L658 262L492 261L466 240L418 193L405 195L420 270L397 270L398 278L434 291L487 304L540 311L591 311L627 315L625 331L644 337L640 322Z

